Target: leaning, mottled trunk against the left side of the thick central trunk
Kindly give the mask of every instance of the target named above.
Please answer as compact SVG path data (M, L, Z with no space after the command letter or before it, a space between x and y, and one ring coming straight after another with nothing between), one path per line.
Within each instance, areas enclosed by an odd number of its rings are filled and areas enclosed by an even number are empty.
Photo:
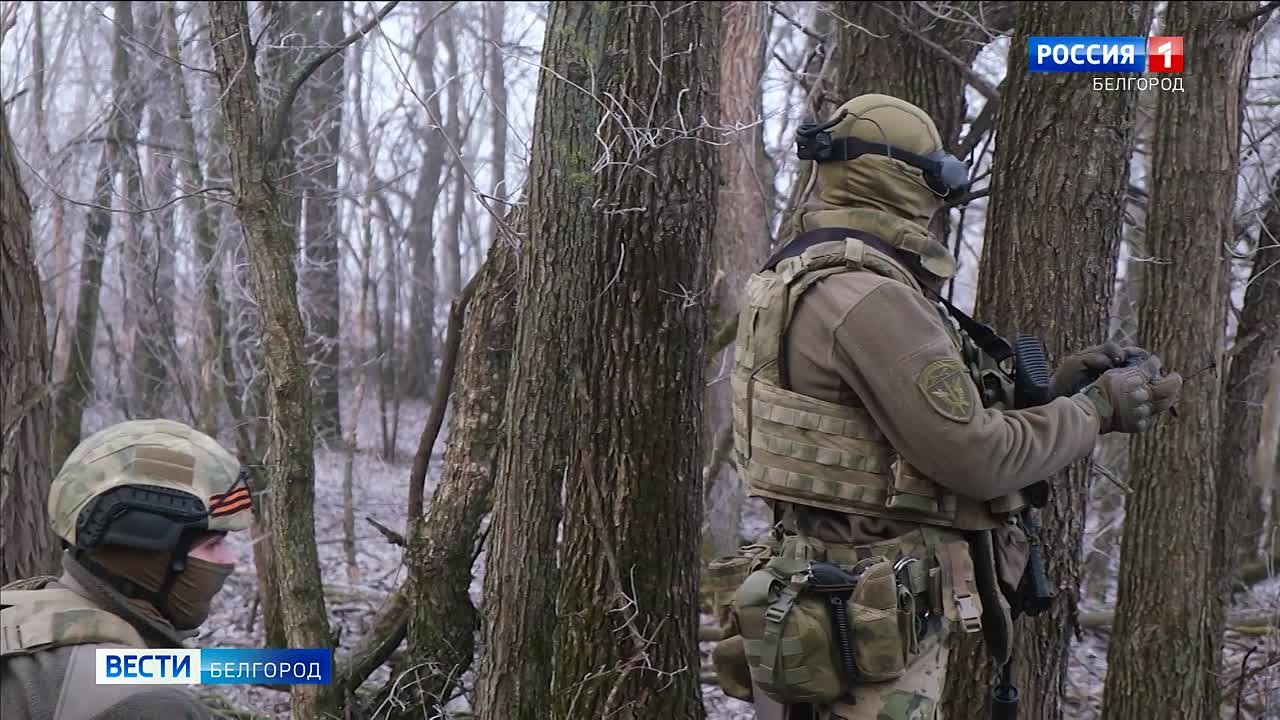
M516 334L515 249L497 240L467 302L453 380L453 409L440 480L426 515L411 518L411 597L403 665L416 683L412 712L442 711L470 669L480 616L471 605L471 564L480 521L490 510L511 347Z

